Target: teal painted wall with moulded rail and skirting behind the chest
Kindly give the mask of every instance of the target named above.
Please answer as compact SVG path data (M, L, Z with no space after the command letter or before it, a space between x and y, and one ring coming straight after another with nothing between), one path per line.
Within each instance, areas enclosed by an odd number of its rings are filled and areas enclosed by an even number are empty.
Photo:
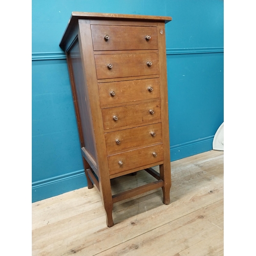
M72 11L172 16L166 24L171 160L212 149L223 122L223 1L32 2L32 202L87 186L65 54Z

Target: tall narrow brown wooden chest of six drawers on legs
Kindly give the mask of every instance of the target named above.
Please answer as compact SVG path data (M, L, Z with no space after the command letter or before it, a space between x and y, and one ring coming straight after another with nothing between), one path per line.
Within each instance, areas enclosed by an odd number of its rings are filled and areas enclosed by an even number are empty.
M66 52L88 188L113 203L162 187L170 203L165 23L171 17L73 12ZM159 165L160 173L152 167ZM112 195L110 180L146 170L155 182Z

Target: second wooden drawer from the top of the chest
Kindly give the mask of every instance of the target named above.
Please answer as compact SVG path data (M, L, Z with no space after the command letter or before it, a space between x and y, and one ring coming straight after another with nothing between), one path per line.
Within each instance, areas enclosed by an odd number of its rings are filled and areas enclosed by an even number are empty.
M158 53L102 54L94 58L98 79L159 74Z

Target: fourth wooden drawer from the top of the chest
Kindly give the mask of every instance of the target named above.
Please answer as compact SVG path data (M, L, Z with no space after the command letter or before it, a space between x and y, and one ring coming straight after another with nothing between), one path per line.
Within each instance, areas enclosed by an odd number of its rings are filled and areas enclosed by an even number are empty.
M104 130L129 125L141 126L161 120L160 101L117 106L103 109L101 113Z

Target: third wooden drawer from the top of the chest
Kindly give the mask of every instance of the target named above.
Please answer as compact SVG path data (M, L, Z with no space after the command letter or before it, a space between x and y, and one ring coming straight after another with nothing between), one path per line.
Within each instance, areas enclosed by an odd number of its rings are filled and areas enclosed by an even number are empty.
M101 106L160 97L159 78L104 82L98 87Z

